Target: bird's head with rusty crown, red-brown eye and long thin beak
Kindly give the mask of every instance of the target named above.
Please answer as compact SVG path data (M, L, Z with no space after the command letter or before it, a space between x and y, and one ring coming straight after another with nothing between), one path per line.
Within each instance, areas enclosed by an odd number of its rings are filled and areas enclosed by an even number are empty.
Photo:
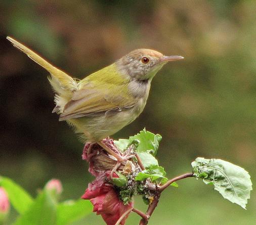
M137 80L150 80L162 66L182 56L164 56L151 49L137 49L123 56L116 63L120 71Z

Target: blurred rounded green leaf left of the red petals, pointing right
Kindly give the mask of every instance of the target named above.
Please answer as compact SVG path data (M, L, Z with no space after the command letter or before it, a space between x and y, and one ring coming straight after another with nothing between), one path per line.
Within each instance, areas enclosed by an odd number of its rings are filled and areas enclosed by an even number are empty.
M92 213L93 207L90 201L79 199L66 201L57 207L57 225L70 224Z

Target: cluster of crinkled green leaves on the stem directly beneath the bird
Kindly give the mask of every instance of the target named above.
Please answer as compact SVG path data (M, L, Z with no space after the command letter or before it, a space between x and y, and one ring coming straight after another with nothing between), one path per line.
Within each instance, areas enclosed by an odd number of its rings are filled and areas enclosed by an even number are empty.
M125 151L133 145L134 152L138 154L145 167L145 170L138 172L134 177L136 190L133 189L132 194L125 187L120 191L120 197L124 202L131 201L133 194L139 194L142 195L144 202L148 204L151 201L152 194L148 191L146 183L150 182L151 184L160 185L167 182L166 172L163 167L159 166L155 158L161 139L160 134L154 134L144 128L129 139L114 141L120 151ZM178 187L176 183L173 186Z

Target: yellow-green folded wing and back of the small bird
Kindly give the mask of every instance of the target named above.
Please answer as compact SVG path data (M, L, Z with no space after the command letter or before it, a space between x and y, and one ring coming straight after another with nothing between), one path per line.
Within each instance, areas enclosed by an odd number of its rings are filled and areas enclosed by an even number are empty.
M60 120L133 107L137 100L129 93L128 82L116 73L114 65L88 76L65 105Z

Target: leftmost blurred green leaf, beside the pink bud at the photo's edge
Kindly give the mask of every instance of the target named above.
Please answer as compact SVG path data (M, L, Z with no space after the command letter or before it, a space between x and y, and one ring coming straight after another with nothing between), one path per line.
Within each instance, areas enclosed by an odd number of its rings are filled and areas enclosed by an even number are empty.
M23 214L33 203L32 197L10 178L0 177L0 186L5 188L12 206Z

